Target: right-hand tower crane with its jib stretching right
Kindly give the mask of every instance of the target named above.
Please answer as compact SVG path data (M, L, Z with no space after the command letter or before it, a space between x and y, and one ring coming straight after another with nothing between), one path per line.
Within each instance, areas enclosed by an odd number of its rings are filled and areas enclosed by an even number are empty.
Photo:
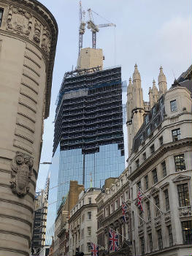
M91 29L92 31L92 44L93 44L93 49L96 49L96 33L99 32L99 28L104 28L107 26L116 26L114 23L107 23L107 24L99 24L96 25L93 22L93 10L91 10L90 8L88 9L88 15L89 15L89 20L87 21L88 23L88 29ZM96 13L96 12L94 12ZM96 13L96 15L98 15Z

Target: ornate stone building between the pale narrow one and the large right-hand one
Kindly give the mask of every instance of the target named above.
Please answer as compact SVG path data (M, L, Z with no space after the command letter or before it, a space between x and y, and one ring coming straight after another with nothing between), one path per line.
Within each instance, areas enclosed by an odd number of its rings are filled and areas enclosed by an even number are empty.
M118 178L107 178L101 193L96 197L97 204L97 244L99 255L131 255L131 220L130 209L123 222L122 203L130 205L128 169ZM109 251L109 228L119 234L118 252ZM103 247L103 249L102 249Z

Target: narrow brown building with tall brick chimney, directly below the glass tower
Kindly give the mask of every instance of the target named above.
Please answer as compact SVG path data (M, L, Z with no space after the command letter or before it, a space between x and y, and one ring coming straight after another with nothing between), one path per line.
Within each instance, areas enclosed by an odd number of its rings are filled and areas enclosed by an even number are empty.
M54 256L69 254L69 214L77 203L81 192L84 192L84 186L78 184L77 181L70 181L69 193L58 208L55 219Z

